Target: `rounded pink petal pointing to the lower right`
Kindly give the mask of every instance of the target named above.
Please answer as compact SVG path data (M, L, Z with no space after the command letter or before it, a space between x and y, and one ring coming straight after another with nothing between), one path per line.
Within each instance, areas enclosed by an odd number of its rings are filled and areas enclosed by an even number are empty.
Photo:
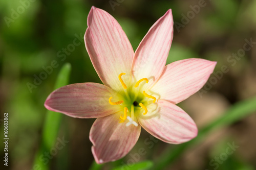
M159 100L158 108L146 115L140 114L138 122L148 133L167 143L183 143L197 136L198 129L191 117L180 107Z

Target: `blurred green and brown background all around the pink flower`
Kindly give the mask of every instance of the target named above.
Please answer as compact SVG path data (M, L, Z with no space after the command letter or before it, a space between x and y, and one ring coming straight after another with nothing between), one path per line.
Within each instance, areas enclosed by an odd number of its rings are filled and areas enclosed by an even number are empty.
M171 8L167 64L218 61L205 87L179 104L198 125L195 140L167 144L142 130L130 154L96 165L89 140L94 119L47 112L44 102L54 88L101 83L83 42L92 6L118 20L134 50ZM0 136L5 112L9 120L8 166L1 142L1 169L256 169L255 9L253 0L0 0ZM146 154L136 157L140 148Z

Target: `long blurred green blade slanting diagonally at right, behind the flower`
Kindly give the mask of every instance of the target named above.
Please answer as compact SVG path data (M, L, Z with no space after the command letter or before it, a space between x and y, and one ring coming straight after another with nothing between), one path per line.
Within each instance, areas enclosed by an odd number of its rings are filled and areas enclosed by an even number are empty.
M196 144L202 141L212 130L229 126L232 123L237 122L238 120L252 114L256 111L255 103L256 96L234 104L225 114L223 114L222 117L214 120L214 122L199 130L198 136L193 140L177 145L177 147L174 149L173 145L172 147L167 148L166 151L159 157L154 169L163 169L167 165L172 164L172 162L174 162L175 159L178 158L185 149L187 149L192 144Z

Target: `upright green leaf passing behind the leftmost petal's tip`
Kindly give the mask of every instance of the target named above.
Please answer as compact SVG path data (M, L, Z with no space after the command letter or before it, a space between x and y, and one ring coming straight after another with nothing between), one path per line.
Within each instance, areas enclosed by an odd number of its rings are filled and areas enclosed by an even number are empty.
M62 66L62 68L59 71L54 89L57 89L68 84L70 72L70 63L66 63ZM46 156L44 155L45 152L49 152L51 148L54 147L59 132L61 117L61 113L56 113L50 110L47 111L44 127L42 129L42 141L34 160L34 169L49 169L48 165L51 159L44 159L46 158Z

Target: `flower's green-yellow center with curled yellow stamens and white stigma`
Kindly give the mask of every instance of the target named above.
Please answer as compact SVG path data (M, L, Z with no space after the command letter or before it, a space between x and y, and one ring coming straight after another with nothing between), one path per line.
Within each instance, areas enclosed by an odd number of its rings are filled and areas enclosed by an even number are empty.
M134 126L138 126L138 124L134 121L135 120L135 112L137 114L139 112L139 114L140 114L140 112L144 111L143 115L145 115L147 113L146 106L150 103L150 101L148 101L148 99L153 99L152 102L155 103L156 98L152 95L147 94L144 90L142 91L142 93L140 92L140 89L135 90L135 88L137 88L141 82L145 81L146 83L148 83L147 78L140 79L139 81L137 81L135 83L134 86L127 88L126 84L124 83L123 79L121 78L123 75L125 75L124 72L122 72L118 76L118 79L124 89L123 100L115 101L115 99L113 99L113 97L111 96L109 98L109 103L111 105L123 106L123 116L120 115L119 123L123 123L124 120L127 118L129 120L129 123L127 123L126 126L130 126L132 124ZM113 101L112 101L112 99L113 99ZM138 107L138 105L140 107ZM127 115L127 114L129 114L129 115Z

